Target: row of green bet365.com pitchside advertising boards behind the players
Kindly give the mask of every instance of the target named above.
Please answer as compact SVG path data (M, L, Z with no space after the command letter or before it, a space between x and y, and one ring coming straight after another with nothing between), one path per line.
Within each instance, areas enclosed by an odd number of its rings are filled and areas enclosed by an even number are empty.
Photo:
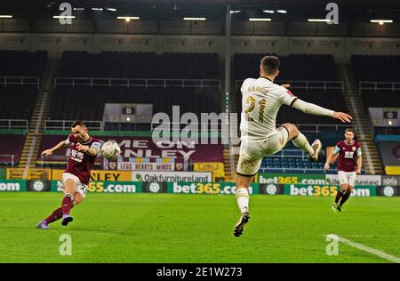
M60 173L61 172L61 173ZM61 191L62 170L53 171L53 181L0 180L0 191ZM212 181L212 173L92 171L92 193L173 193L230 195L233 182ZM250 194L334 197L340 189L336 175L260 173ZM400 196L400 176L358 175L355 197Z

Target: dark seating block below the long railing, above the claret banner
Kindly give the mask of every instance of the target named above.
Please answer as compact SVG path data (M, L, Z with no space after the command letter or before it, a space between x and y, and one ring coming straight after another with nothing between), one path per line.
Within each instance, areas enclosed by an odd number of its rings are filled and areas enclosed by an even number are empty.
M180 112L220 112L220 92L214 88L58 86L53 94L49 119L102 120L105 103L150 103L153 112L172 116L172 105Z

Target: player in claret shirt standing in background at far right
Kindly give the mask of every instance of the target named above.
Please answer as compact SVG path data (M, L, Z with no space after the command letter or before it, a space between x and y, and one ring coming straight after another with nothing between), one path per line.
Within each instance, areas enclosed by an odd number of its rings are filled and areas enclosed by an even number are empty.
M355 132L353 129L346 129L345 140L338 142L332 153L326 158L324 170L329 170L329 165L333 158L339 155L338 177L340 181L340 190L336 195L332 205L333 212L341 212L343 204L348 200L351 191L356 185L356 174L361 173L363 159L361 157L360 144L354 141Z

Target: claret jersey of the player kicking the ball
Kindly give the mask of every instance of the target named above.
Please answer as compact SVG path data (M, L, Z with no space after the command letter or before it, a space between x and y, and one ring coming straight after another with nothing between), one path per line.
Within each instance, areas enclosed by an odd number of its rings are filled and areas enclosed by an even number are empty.
M65 173L72 173L76 175L79 181L81 181L84 185L88 185L96 157L92 157L84 152L78 151L76 149L78 141L76 141L76 138L72 134L68 136L68 139L65 141L65 143L69 147L68 165ZM84 146L89 146L89 148L98 149L99 151L101 148L100 141L92 137L89 141L81 142L81 144Z

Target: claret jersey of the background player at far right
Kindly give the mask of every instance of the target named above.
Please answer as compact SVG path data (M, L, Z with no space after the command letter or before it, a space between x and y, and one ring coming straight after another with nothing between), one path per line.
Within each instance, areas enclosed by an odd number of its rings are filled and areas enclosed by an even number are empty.
M358 142L353 141L348 143L347 141L340 141L333 149L333 153L339 153L338 171L356 171L357 157L361 155L361 147Z

